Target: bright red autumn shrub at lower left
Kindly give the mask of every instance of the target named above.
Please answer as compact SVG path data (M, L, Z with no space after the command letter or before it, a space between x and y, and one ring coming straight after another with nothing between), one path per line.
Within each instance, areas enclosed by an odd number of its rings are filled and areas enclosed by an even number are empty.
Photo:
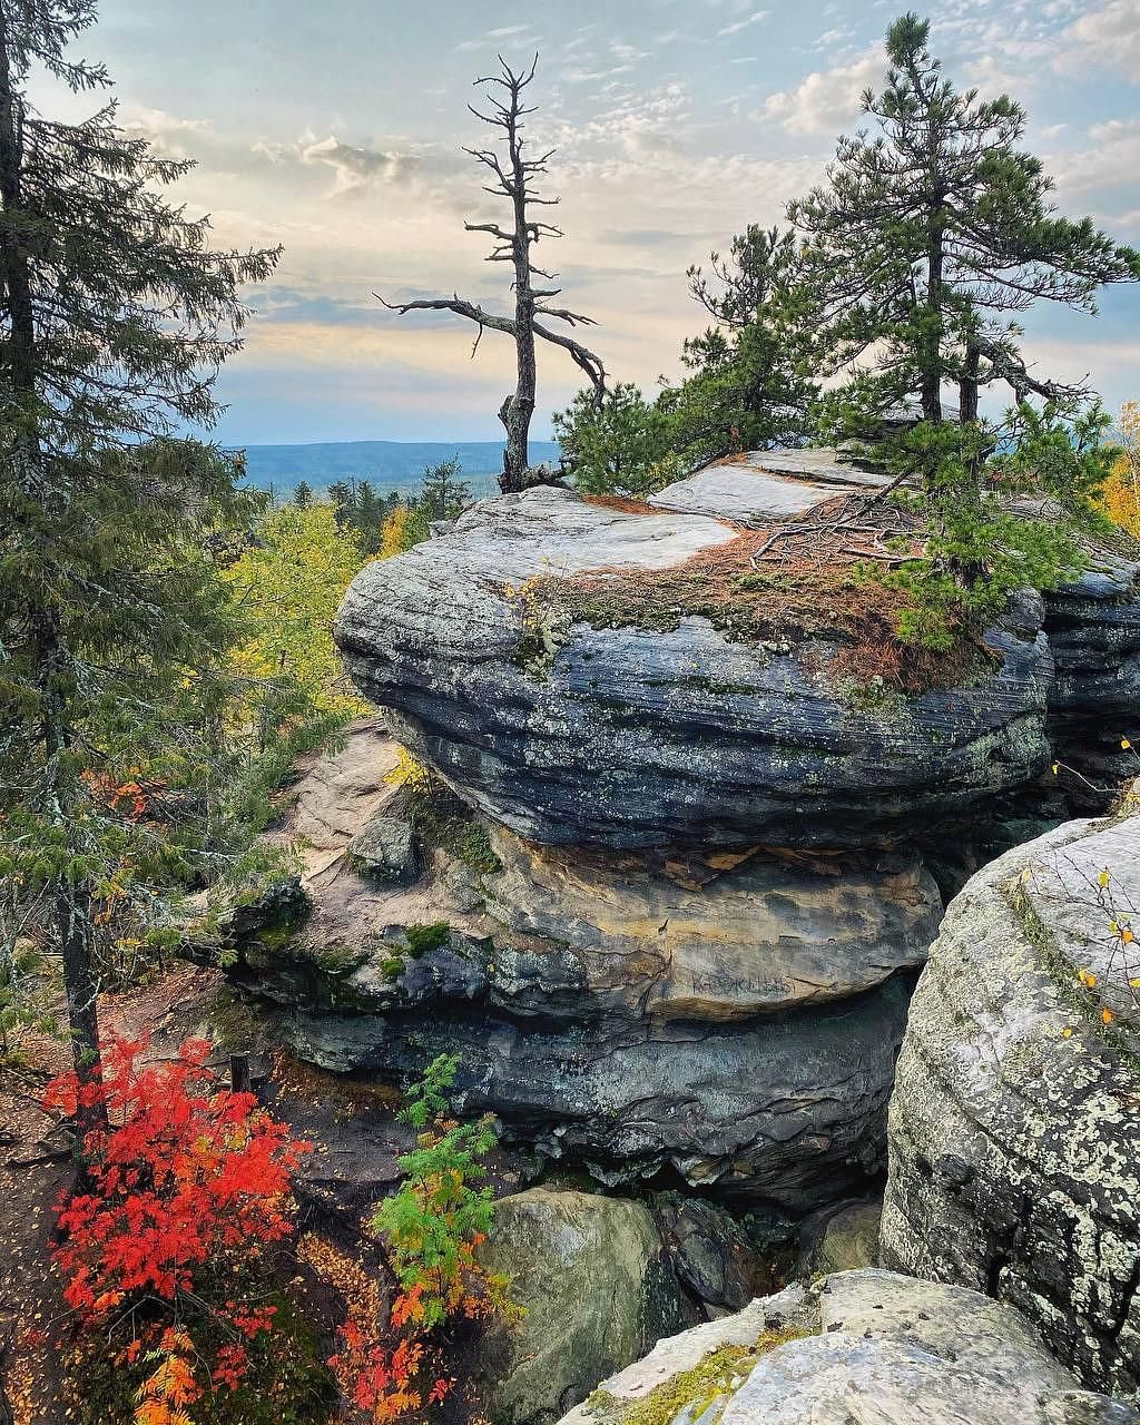
M111 1039L101 1083L67 1073L46 1090L48 1109L74 1116L101 1102L108 1117L84 1137L84 1191L60 1204L54 1260L88 1331L127 1322L117 1364L154 1367L137 1425L188 1425L207 1392L238 1389L248 1342L274 1327L272 1305L241 1300L235 1267L292 1233L291 1173L309 1144L219 1083L208 1040L162 1063L147 1062L148 1047ZM218 1282L232 1294L214 1300ZM201 1320L222 1327L212 1355L194 1335Z

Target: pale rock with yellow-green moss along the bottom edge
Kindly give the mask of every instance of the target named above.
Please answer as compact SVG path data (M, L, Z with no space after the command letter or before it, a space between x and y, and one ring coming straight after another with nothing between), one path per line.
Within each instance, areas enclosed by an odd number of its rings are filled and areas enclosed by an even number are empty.
M561 1425L1136 1425L975 1291L848 1271L658 1342Z

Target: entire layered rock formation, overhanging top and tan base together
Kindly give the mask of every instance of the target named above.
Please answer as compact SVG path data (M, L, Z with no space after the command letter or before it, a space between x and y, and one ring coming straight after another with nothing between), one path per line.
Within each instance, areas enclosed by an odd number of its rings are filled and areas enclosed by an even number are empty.
M1047 767L1047 717L1076 728L1082 688L1140 657L1082 583L1050 604L1063 687L1030 593L911 681L896 596L852 573L849 534L826 536L838 564L814 536L767 557L779 522L881 484L784 452L653 506L539 487L370 564L338 617L346 665L486 825L413 835L375 727L370 789L352 745L302 784L279 835L309 842L311 913L232 936L292 1046L388 1079L457 1052L472 1110L607 1184L778 1213L865 1193L940 913L929 866L956 888L982 824L1007 845L998 797Z

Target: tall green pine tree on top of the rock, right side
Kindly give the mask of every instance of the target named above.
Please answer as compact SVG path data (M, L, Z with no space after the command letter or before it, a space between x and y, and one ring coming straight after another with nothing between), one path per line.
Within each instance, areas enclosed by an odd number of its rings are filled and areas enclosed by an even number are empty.
M928 37L912 13L891 26L886 87L864 94L878 133L841 138L828 182L789 208L819 351L831 372L871 362L852 396L872 415L916 396L939 422L948 383L963 423L993 383L1076 400L1087 392L1029 370L1016 314L1037 301L1094 312L1103 284L1140 278L1140 254L1056 215L1053 181L1019 147L1022 107L959 93Z

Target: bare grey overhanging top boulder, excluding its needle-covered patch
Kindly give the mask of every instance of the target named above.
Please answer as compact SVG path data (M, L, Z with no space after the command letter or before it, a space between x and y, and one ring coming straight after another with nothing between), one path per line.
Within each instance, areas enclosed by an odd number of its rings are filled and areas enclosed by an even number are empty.
M543 844L881 845L1045 770L1052 657L1033 628L992 630L995 661L962 687L878 705L819 671L841 648L824 633L734 641L683 608L675 628L593 627L529 593L675 569L738 534L547 487L483 500L369 564L335 637L402 742Z

